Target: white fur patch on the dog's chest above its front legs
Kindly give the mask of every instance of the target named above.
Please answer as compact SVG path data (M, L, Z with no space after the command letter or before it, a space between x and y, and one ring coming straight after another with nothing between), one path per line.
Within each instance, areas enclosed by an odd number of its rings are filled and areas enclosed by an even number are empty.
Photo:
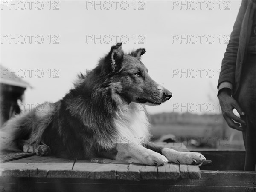
M122 106L116 115L114 123L117 130L117 143L141 145L149 139L149 122L143 104L131 103L128 106Z

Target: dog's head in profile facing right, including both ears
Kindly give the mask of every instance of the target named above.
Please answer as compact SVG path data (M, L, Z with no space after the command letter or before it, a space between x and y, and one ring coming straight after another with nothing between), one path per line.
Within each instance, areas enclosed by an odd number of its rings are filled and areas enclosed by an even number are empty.
M148 69L140 61L144 48L129 54L122 51L122 43L111 47L101 61L101 72L108 76L115 92L127 103L160 105L169 100L172 93L160 86L148 75Z

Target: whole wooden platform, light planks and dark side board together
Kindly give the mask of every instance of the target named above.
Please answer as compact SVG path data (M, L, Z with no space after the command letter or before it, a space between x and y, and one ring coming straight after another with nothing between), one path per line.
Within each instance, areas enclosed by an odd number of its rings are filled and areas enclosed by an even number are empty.
M182 143L157 144L188 151ZM26 153L1 155L0 191L3 192L256 191L256 172L200 171L198 166L172 163L158 167L86 160L74 163L74 160L27 156L31 154Z

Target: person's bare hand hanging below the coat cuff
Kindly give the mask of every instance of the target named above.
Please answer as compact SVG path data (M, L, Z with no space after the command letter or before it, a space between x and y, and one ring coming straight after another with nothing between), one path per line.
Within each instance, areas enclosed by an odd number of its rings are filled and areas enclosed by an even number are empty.
M236 102L236 100L231 97L229 89L221 89L218 98L221 105L223 117L226 120L228 126L233 129L243 131L239 123L241 123L242 125L246 125L246 123L233 113L233 109L236 109L240 115L245 115L245 113ZM233 120L238 123L235 123Z

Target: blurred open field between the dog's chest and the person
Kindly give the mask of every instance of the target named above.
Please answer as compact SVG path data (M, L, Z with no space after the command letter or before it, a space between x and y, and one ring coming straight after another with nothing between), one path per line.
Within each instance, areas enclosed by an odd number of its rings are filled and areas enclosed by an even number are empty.
M159 139L162 135L175 135L173 140L183 141L189 150L219 149L219 150L244 150L242 133L221 126L214 125L153 125L151 128L152 140Z

